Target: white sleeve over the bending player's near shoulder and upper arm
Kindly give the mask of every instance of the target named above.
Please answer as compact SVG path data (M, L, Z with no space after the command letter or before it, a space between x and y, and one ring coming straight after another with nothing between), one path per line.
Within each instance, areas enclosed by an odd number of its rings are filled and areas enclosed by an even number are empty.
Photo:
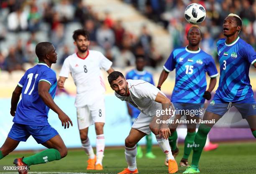
M160 92L158 88L148 82L141 82L140 85L135 85L134 89L134 95L138 98L150 98L153 101L156 100L156 95Z

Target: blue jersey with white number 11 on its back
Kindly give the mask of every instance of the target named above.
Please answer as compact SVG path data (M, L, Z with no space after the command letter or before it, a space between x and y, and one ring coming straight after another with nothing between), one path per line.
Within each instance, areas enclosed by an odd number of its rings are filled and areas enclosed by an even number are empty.
M49 107L45 105L38 95L38 83L48 82L51 85L49 93L54 98L57 86L55 72L46 64L38 63L35 67L28 69L18 82L22 87L22 99L18 103L14 123L23 125L49 125Z

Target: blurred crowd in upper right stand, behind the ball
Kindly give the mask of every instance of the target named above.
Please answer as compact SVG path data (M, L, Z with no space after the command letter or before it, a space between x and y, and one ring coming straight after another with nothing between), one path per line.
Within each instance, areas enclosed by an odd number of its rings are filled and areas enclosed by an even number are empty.
M240 37L256 49L256 1L255 0L123 0L133 5L141 14L164 26L171 34L173 47L187 45L187 31L191 24L184 18L185 8L191 3L202 4L207 17L200 24L203 33L201 48L217 56L216 41L223 38L223 21L229 13L242 18Z

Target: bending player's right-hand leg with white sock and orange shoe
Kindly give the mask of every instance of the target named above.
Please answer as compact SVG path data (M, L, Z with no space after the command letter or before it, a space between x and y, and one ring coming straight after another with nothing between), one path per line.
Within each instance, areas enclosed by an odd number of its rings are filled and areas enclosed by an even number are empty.
M172 155L172 150L169 145L169 141L164 139L164 137L159 135L160 124L157 121L158 119L161 120L161 117L154 117L149 125L150 130L155 134L156 141L159 144L161 150L166 155L166 161L168 160L168 170L169 173L176 173L178 171L177 162Z

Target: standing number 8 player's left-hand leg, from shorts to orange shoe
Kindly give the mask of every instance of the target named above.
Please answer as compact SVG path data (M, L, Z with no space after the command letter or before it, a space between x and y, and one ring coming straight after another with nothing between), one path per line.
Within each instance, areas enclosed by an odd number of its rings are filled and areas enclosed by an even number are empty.
M92 117L90 115L90 110L88 106L77 107L77 123L79 128L80 140L82 143L82 148L88 155L87 160L87 170L94 170L96 163L96 156L93 152L90 139L88 137L89 126L93 124Z

